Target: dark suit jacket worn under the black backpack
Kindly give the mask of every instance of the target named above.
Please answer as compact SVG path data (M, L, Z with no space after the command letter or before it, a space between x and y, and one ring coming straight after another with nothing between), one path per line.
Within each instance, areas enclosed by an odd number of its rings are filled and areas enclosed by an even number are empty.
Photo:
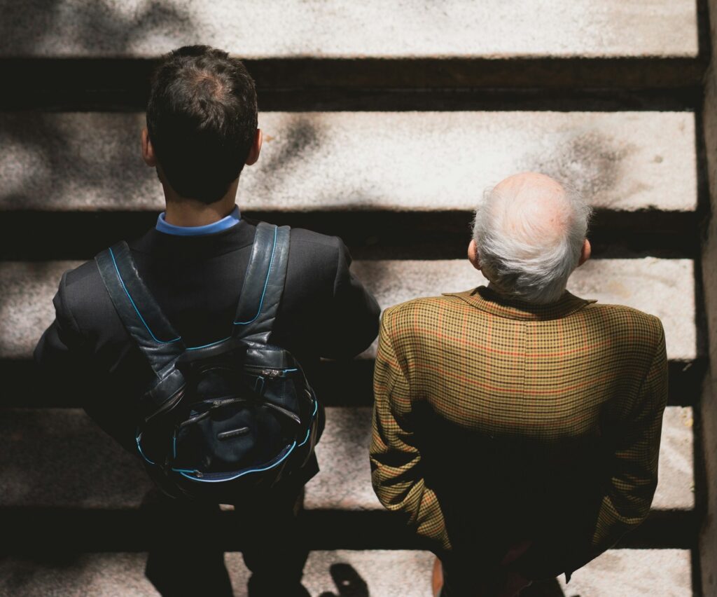
M138 271L188 346L229 335L256 225L204 236L149 230L130 241ZM319 357L353 357L378 333L379 306L351 275L351 256L336 237L293 229L285 291L272 342L299 359L311 381ZM80 397L87 413L135 453L136 400L153 373L128 336L95 262L62 276L56 319L34 356L52 391ZM320 400L319 396L319 400ZM318 471L315 459L305 470Z

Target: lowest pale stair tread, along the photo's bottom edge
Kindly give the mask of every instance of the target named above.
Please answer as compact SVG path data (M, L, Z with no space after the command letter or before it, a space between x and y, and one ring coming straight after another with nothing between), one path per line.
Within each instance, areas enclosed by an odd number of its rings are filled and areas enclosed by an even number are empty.
M239 553L224 557L234 595L246 596ZM14 597L155 597L144 576L146 553L62 553L4 558L0 593ZM423 551L314 551L303 584L312 597L430 597L433 555ZM350 592L349 592L350 591ZM691 597L689 550L609 550L564 578L536 584L526 597Z

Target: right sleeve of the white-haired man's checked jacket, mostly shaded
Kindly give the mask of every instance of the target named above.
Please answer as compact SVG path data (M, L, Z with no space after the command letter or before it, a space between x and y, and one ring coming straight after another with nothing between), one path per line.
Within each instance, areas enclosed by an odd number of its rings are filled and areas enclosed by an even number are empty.
M663 413L668 400L668 362L665 332L657 318L655 354L637 397L621 413L622 420L612 432L609 479L604 486L602 504L592 537L582 544L566 545L561 570L541 570L540 555L528 552L518 560L519 568L528 578L571 573L612 547L622 535L640 525L650 513L657 487L657 461ZM533 557L531 557L531 555Z

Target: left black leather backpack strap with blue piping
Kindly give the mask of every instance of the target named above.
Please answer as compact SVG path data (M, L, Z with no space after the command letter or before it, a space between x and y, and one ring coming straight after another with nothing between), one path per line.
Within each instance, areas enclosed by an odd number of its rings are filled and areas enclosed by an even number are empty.
M125 329L162 379L184 352L181 336L140 278L127 243L103 250L95 263Z

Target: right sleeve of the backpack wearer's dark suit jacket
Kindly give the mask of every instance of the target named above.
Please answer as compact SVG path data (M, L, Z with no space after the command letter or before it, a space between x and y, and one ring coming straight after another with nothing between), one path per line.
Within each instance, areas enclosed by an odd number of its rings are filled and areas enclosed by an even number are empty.
M331 359L350 358L364 351L379 333L379 304L349 267L351 255L336 238L338 255L333 278L333 296L326 312L319 314L323 338L320 355Z

